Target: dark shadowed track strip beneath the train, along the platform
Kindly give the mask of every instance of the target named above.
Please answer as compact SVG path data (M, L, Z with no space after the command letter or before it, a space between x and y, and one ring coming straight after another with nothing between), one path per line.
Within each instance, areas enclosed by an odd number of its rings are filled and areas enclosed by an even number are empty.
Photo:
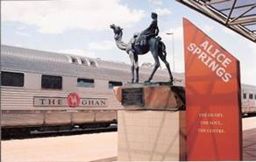
M11 139L26 139L36 137L57 137L57 136L71 136L79 134L90 134L100 132L117 131L117 124L111 124L109 127L98 128L74 128L71 130L31 130L28 132L20 131L15 134L2 134L2 140Z

